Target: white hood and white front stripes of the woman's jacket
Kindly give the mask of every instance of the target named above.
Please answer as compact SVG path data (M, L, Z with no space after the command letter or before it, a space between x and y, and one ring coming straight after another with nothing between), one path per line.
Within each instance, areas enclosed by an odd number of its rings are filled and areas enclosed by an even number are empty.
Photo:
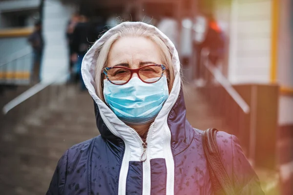
M180 62L177 50L174 44L164 35L159 29L152 25L148 25L143 22L123 22L110 30L108 30L99 40L97 40L93 46L89 49L83 59L82 63L82 76L84 84L88 89L89 94L96 102L100 115L110 130L110 132L120 137L125 143L125 152L123 156L122 166L119 176L119 195L125 195L126 192L126 176L128 172L129 161L140 161L140 157L144 152L142 147L142 141L133 129L127 126L121 121L112 110L98 98L94 88L94 77L96 68L96 50L102 44L105 43L109 37L119 30L122 26L142 26L144 28L153 29L159 35L159 37L166 43L167 47L172 53L172 62L175 66L176 76L174 79L172 90L165 102L163 108L155 118L152 127L148 131L146 160L143 162L143 195L150 194L150 159L164 158L166 160L167 167L167 195L173 195L174 191L174 160L171 150L171 132L167 124L168 113L175 104L179 92L181 89L180 80ZM102 135L103 136L103 135Z

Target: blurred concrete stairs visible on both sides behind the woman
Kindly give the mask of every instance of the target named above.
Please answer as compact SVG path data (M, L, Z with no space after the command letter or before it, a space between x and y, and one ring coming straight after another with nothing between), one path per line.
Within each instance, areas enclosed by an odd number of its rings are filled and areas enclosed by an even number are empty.
M195 128L226 131L206 99L185 89L187 118ZM23 116L21 124L0 129L0 194L45 194L59 158L74 144L98 136L93 100L76 88L57 102Z

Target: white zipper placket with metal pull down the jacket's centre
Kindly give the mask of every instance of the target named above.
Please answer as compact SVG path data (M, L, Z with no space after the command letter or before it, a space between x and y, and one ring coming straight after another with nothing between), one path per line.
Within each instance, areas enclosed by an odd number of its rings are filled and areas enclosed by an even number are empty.
M135 132L138 139L141 141L141 148L142 148L142 154L140 156L140 161L143 162L143 195L150 195L150 159L147 152L147 140L148 135L151 131L151 128L153 127L154 123L151 123L151 125L148 128L147 134L146 134L146 141L144 141L138 133L131 128L132 131Z

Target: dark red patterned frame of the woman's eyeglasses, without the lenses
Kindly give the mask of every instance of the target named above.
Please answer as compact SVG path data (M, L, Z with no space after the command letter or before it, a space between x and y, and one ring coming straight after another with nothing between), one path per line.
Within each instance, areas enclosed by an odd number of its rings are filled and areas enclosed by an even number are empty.
M158 80L153 81L153 82L146 82L146 81L144 81L142 78L140 78L140 76L139 76L139 71L140 71L141 69L143 69L143 68L150 67L150 66L159 66L159 67L161 67L161 68L162 68L162 74L161 74L161 77L160 77ZM108 78L107 72L108 72L108 70L110 70L110 69L114 69L114 68L123 68L123 69L129 70L129 71L130 71L130 77L129 77L129 79L128 79L125 83L114 83L114 82L112 82L112 81ZM102 73L105 74L106 78L107 78L108 81L110 81L111 83L113 83L113 84L115 84L115 85L124 85L124 84L126 84L127 82L129 82L129 80L132 78L133 73L136 73L137 76L138 76L138 78L141 79L141 81L143 81L143 82L145 82L145 83L154 83L154 82L157 82L157 81L159 81L159 80L163 77L164 72L165 72L166 69L167 69L166 66L163 65L163 64L150 64L150 65L146 65L146 66L143 66L143 67L140 67L140 68L136 68L136 69L127 68L127 67L124 67L124 66L112 66L112 67L105 67L105 68L103 68Z

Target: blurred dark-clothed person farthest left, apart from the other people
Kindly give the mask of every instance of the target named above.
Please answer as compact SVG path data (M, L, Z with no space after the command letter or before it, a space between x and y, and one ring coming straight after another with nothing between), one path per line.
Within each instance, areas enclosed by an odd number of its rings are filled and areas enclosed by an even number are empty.
M41 81L40 72L44 48L44 40L42 37L42 22L40 20L36 21L34 32L28 37L28 41L33 49L33 67L31 79L33 83L38 83Z

